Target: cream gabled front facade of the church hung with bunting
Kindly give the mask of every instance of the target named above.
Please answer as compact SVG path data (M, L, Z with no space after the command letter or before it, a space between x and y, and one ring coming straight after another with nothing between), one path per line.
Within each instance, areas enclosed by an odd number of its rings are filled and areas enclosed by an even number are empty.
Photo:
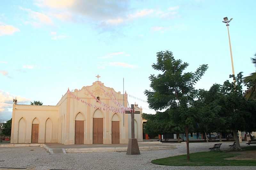
M105 96L105 94L102 92L102 90L99 90L100 86L94 82L92 86L83 87L80 90L75 89L74 95L79 97L80 99L91 103L93 106L97 105L98 107L102 107L100 103L96 102L95 99L93 99L88 92L86 91L86 88L89 88L91 92L93 92L93 95L95 97L100 97L100 101L104 102L105 104L111 105L116 107L116 104L112 103L112 101ZM106 91L108 91L109 94L111 94L111 89L104 87ZM123 95L120 92L114 92L116 98L119 100L120 103L123 103ZM81 101L77 101L76 99L70 98L70 115L69 115L69 135L68 135L68 142L64 144L74 144L75 143L75 118L76 114L81 112L84 116L84 144L92 144L93 143L93 114L97 108L93 108L90 106L87 106L83 104ZM60 103L60 102L59 102ZM62 105L62 104L60 104ZM125 98L125 106L127 106L127 98ZM60 107L62 108L62 106ZM64 108L64 107L63 107ZM60 109L61 110L61 109ZM101 109L100 110L103 115L103 143L105 144L111 144L112 143L112 116L113 112L106 111ZM128 143L128 123L126 120L128 119L127 115L125 115L125 126L123 126L123 114L117 113L120 118L120 143ZM128 121L128 120L127 120Z

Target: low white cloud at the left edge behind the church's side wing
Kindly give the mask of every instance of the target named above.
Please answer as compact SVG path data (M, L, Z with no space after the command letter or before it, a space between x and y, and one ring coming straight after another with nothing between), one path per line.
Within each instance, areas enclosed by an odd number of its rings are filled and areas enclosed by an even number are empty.
M9 120L12 117L12 104L14 95L11 95L8 92L0 90L0 118L3 120ZM24 104L30 101L25 97L17 96L18 104Z

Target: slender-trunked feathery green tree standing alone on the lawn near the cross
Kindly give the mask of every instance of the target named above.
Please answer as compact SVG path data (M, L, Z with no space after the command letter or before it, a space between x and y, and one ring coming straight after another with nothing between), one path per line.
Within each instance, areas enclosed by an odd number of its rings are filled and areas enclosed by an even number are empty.
M175 60L171 51L157 53L157 63L153 69L160 71L157 76L151 74L149 80L152 90L145 90L149 107L155 110L167 109L176 124L185 127L187 136L187 158L189 160L188 132L196 125L197 110L192 107L198 90L194 85L201 79L208 65L201 65L196 72L184 72L188 63Z

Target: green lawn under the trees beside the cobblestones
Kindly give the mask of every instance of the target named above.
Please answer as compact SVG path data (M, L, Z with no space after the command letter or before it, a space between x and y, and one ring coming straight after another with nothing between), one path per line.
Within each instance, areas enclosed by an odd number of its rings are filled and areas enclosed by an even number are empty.
M256 146L243 148L244 151L256 150ZM240 155L241 152L208 151L190 154L190 161L187 155L179 155L168 158L155 159L151 162L158 165L168 166L256 166L255 160L227 160Z

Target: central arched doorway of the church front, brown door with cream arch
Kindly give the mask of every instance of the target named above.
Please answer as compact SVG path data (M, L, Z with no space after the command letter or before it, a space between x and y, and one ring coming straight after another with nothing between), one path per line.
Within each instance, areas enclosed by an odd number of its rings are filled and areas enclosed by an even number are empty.
M93 144L102 144L103 143L103 114L97 109L93 114Z

